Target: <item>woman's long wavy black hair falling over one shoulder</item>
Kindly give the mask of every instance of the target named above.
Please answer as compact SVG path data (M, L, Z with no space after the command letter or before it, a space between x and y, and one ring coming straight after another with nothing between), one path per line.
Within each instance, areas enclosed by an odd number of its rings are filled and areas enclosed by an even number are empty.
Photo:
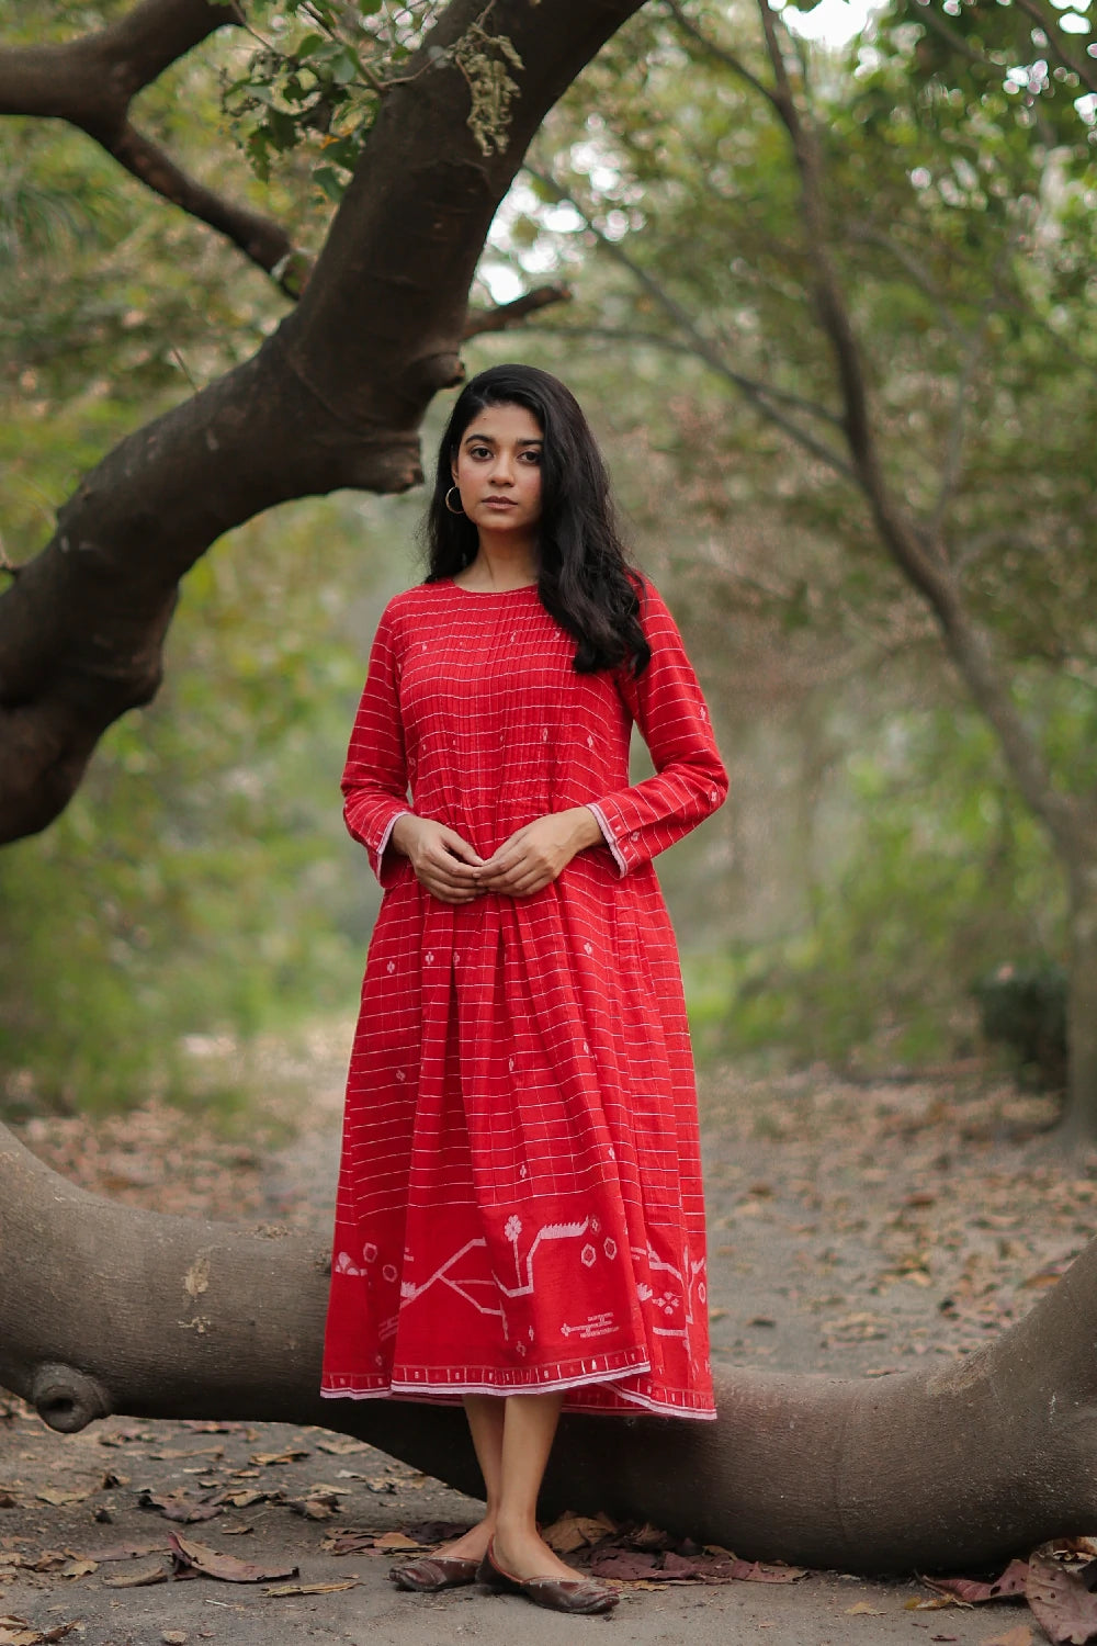
M446 492L469 423L484 407L525 407L536 418L541 451L538 594L558 624L576 639L581 675L630 663L640 675L651 647L640 627L643 581L625 560L617 535L610 482L579 402L558 377L536 365L492 365L457 395L437 451L434 495L426 514L428 583L472 565L479 535L464 514L451 514Z

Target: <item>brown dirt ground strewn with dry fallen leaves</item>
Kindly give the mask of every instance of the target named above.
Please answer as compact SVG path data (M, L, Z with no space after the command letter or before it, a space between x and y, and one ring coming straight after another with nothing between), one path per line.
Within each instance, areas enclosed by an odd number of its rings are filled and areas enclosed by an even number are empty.
M253 1065L265 1118L240 1118L229 1134L156 1106L100 1124L33 1121L21 1134L58 1169L130 1203L326 1230L344 1053L339 1029L294 1058L281 1050ZM1002 1330L1094 1231L1097 1157L1062 1159L1044 1131L1053 1118L1049 1101L975 1065L863 1086L826 1070L709 1072L715 1360L885 1376ZM183 1523L164 1504L215 1513ZM470 1500L322 1430L112 1417L64 1437L0 1397L0 1646L518 1636L538 1646L595 1628L699 1646L1028 1646L1026 1630L1043 1639L1018 1605L914 1610L933 1598L914 1579L625 1585L609 1620L566 1620L479 1588L429 1600L390 1585L401 1542L474 1516ZM199 1567L230 1555L266 1575L168 1575L171 1536L176 1564L189 1549ZM336 1587L280 1592L312 1585Z

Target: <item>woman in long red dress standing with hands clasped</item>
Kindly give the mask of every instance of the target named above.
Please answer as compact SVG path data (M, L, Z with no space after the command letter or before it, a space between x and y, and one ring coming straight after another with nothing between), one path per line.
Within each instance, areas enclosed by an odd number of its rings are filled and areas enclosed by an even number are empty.
M457 398L429 576L386 607L344 774L385 887L350 1058L326 1396L464 1402L487 1513L393 1572L566 1611L543 1542L561 1406L714 1417L689 1039L655 853L727 792L548 372ZM656 775L628 783L633 721ZM411 802L408 800L411 790Z

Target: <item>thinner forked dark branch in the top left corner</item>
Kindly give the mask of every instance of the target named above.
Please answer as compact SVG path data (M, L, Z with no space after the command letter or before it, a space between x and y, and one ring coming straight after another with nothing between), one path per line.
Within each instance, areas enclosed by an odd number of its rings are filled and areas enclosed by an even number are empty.
M296 298L311 262L281 224L197 183L130 120L133 97L145 86L214 30L240 20L232 0L143 0L109 28L67 44L0 51L0 114L54 117L87 132L135 178L224 234Z

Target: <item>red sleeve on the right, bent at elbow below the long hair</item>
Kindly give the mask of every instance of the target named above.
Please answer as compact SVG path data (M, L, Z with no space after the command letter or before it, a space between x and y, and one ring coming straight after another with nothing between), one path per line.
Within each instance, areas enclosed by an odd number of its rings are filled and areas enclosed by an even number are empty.
M618 690L648 746L655 777L590 803L622 874L673 846L727 795L727 772L697 677L674 619L650 583L641 622L651 662L640 678L618 670Z

